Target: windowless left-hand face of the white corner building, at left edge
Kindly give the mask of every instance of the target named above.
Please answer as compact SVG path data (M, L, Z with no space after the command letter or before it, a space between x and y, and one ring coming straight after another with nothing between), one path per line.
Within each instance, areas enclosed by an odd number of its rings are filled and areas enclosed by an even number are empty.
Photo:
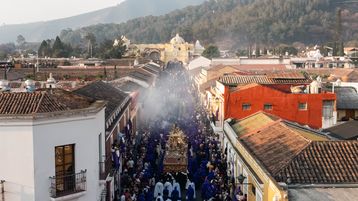
M35 200L32 128L1 124L0 180L5 180L5 199Z

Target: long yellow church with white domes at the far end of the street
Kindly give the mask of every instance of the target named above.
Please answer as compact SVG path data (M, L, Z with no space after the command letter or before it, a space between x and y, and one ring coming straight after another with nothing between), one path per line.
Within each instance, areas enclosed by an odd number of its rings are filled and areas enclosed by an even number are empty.
M189 60L190 54L201 54L204 50L203 46L200 45L199 40L195 45L189 44L188 42L185 42L179 34L176 34L176 36L170 40L170 43L131 44L127 47L128 53L126 56L135 54L136 56L160 59L165 63L177 60L185 62L186 60Z

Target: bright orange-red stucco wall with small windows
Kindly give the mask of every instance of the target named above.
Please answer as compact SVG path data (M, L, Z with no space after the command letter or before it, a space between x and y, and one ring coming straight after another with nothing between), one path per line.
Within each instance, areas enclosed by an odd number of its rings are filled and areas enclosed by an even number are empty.
M275 85L277 88L289 88L291 85ZM273 87L273 86L272 86ZM321 94L286 94L263 85L228 93L225 87L224 108L225 119L243 119L256 112L264 111L275 116L309 125L311 128L322 126L323 100L335 100L337 94L323 92ZM251 103L250 110L242 110L242 103ZM264 110L264 103L272 103L272 110ZM307 103L306 110L298 110L299 103Z

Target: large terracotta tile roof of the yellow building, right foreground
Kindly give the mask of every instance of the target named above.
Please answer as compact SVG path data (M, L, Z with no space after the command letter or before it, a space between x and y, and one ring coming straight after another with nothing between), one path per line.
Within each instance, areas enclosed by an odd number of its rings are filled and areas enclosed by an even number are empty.
M311 141L278 122L242 143L278 182L358 182L357 141Z

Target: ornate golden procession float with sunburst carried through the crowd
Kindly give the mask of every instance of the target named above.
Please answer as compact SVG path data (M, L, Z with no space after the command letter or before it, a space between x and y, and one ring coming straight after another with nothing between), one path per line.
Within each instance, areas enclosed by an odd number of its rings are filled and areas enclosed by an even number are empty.
M163 172L186 172L188 168L188 141L184 132L173 124L165 145Z

